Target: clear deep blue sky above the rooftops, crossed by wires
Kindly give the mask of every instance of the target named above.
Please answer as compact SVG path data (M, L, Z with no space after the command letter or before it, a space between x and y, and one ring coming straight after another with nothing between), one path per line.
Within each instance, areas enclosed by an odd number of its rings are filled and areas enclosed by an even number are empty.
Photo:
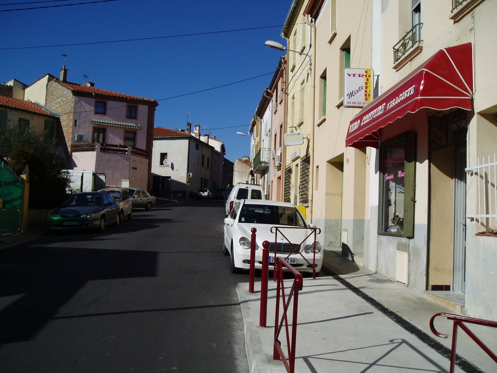
M0 83L59 77L66 54L69 81L83 84L86 75L97 88L155 98L156 126L186 129L189 113L202 133L225 142L226 158L250 155L249 137L236 132L248 133L283 53L264 41L285 44L291 0L117 0L2 11L85 1L94 0L0 1ZM228 30L241 31L220 32ZM98 43L146 38L155 39ZM78 43L91 44L53 46ZM39 46L53 47L24 48Z

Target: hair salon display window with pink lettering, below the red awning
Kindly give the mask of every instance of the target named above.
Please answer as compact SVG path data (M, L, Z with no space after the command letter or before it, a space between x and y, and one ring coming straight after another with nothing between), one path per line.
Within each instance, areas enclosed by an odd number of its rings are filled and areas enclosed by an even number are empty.
M414 236L415 135L381 147L379 234Z

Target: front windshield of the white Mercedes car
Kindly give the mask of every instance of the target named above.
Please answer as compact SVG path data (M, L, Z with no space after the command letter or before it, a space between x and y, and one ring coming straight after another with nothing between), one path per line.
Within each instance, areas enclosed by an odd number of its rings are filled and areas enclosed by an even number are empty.
M293 206L267 206L250 204L243 207L240 223L290 225L306 227L307 224L299 211Z

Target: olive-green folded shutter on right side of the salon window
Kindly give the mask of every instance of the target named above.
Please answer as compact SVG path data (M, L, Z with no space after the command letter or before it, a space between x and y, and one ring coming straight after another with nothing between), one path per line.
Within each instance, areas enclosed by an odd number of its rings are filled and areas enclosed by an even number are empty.
M404 195L404 236L414 237L414 206L415 206L415 177L416 177L416 135L406 134L405 160L405 195Z

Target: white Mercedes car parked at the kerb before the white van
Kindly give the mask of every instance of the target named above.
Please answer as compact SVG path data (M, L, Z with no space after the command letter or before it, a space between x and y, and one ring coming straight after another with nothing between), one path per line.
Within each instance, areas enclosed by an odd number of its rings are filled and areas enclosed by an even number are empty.
M269 241L269 269L274 266L274 250L299 272L316 276L323 265L320 232L306 223L295 205L260 199L237 201L224 219L224 254L231 255L231 272L250 268L251 229L256 228L255 268L262 268L262 242ZM275 244L276 243L276 244Z

